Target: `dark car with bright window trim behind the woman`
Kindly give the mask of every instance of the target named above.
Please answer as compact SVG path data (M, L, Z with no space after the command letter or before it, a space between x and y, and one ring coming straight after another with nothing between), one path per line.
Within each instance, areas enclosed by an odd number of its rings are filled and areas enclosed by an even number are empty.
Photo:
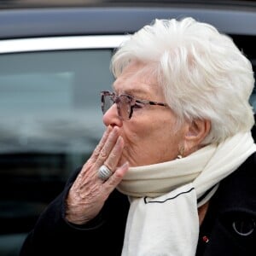
M247 1L0 1L0 255L18 255L40 212L102 131L99 92L127 34L192 16L230 35L256 70ZM256 90L250 99L256 110ZM227 110L228 111L228 110Z

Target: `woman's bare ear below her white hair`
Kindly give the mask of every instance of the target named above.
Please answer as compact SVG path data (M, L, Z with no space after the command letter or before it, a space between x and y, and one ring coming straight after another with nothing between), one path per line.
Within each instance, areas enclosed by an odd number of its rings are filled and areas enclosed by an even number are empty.
M206 119L195 119L188 124L184 137L184 154L188 155L200 148L201 142L211 130L211 122Z

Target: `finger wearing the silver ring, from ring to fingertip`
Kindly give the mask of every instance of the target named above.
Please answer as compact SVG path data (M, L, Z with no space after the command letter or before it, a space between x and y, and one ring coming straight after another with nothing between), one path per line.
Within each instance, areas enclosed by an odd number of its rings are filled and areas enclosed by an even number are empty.
M108 167L112 172L115 171L116 166L119 163L119 159L123 153L125 147L124 139L119 136L117 142L115 143L113 149L108 155L107 160L105 160L104 165Z

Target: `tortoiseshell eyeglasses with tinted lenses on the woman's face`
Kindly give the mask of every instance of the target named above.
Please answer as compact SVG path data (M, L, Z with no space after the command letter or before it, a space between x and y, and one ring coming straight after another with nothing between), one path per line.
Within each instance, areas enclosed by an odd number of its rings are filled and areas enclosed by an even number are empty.
M131 119L134 108L143 108L144 105L157 105L167 107L166 103L152 102L147 100L138 100L133 96L121 94L116 96L113 92L104 90L101 91L102 113L106 113L109 108L115 103L117 105L119 118L128 120Z

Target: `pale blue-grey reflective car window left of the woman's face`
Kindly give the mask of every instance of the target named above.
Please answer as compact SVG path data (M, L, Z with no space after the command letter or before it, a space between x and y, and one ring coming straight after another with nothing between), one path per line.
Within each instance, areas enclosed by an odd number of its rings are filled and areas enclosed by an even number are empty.
M99 92L113 83L111 54L90 49L2 55L1 150L84 153L102 127Z

